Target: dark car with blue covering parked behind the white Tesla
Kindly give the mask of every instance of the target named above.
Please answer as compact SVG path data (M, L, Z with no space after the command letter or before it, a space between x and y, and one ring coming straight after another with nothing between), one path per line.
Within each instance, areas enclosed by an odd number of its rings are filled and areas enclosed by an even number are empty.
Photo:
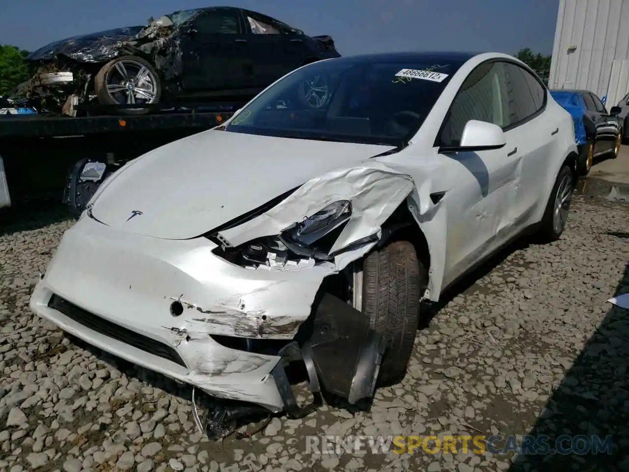
M601 99L587 90L554 89L550 95L572 115L579 174L589 173L595 157L618 156L623 137L623 121L618 118L620 107L613 106L608 112Z

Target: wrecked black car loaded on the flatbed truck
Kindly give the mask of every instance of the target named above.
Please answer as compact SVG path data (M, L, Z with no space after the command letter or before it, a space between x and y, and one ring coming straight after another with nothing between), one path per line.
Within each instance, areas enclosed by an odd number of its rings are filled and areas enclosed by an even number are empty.
M33 77L16 94L40 112L114 107L138 115L160 103L247 101L291 70L332 57L340 54L330 36L308 37L242 8L200 8L42 47L28 56Z

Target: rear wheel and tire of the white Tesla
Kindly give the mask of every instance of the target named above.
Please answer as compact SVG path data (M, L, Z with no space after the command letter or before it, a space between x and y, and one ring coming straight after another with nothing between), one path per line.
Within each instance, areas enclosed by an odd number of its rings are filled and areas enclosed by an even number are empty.
M559 171L555 185L544 211L539 236L542 242L552 242L561 237L568 219L574 191L574 176L569 166Z

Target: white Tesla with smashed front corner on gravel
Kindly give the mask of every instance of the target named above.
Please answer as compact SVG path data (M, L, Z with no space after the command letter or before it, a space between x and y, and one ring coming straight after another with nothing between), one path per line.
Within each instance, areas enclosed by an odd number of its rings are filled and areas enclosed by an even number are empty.
M303 362L312 391L368 403L403 378L420 301L527 229L560 237L576 158L508 55L323 60L109 177L30 306L213 398L298 415Z

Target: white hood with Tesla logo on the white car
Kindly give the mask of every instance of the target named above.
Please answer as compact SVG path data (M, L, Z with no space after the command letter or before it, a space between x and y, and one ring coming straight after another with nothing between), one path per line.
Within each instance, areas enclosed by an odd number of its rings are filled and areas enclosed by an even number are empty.
M390 149L208 130L126 164L94 195L92 216L151 237L198 237L320 174Z

